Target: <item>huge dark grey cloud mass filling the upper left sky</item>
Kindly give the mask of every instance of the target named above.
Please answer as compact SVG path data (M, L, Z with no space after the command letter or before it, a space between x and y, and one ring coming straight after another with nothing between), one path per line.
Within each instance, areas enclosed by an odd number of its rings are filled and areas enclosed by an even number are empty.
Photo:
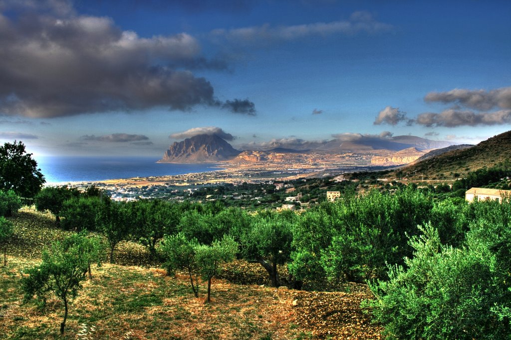
M110 18L76 15L66 1L1 2L0 46L0 114L50 118L197 105L255 113L248 100L219 101L210 82L190 71L227 68L201 56L191 35L139 37Z

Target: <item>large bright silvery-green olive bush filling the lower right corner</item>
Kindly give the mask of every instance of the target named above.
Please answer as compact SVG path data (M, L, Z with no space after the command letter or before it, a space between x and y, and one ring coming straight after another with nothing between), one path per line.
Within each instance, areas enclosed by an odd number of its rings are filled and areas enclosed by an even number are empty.
M502 275L509 274L499 269L494 248L481 246L475 236L466 247L453 248L442 245L431 225L421 230L424 235L410 239L415 251L413 258L405 259L407 269L389 267L389 281L370 284L376 300L368 305L375 319L385 325L387 335L509 338L511 325L505 307L511 296L502 281Z

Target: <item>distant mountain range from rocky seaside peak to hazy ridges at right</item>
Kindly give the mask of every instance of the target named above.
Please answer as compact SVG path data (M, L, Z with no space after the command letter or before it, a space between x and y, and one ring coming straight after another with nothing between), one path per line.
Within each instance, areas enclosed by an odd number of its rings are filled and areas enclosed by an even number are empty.
M370 153L388 156L390 152L401 151L410 149L411 151L404 151L403 154L396 155L396 158L403 158L409 163L424 152L422 150L431 150L450 146L452 143L445 141L432 141L415 136L396 136L390 138L379 137L362 137L352 141L345 141L341 139L334 139L327 142L306 142L296 145L283 145L277 144L268 145L267 150L244 150L239 151L234 149L229 143L217 135L197 135L187 138L181 142L173 143L165 152L163 158L159 160L160 163L215 163L233 160L258 162L258 161L272 161L285 158L285 154L307 154L307 153ZM426 151L426 152L427 152ZM413 155L412 155L413 154ZM277 156L278 155L278 156ZM284 156L283 156L284 155Z

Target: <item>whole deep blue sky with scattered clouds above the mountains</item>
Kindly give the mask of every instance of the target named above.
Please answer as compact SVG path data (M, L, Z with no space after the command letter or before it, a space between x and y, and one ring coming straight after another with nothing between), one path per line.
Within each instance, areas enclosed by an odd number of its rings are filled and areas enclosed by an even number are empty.
M511 129L511 2L0 0L0 143L161 157Z

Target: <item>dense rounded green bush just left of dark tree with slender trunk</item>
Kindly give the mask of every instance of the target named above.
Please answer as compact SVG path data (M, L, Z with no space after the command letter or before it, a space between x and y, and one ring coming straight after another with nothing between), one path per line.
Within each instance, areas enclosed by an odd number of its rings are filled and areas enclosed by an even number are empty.
M96 216L102 199L98 197L73 197L63 202L60 225L65 230L96 230Z

